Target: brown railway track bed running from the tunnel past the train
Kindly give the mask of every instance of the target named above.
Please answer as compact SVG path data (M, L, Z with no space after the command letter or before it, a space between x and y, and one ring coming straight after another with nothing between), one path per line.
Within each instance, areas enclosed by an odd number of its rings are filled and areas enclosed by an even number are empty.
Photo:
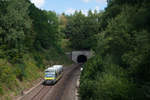
M40 84L21 100L75 100L76 83L80 75L80 65L64 69L63 77L52 86Z

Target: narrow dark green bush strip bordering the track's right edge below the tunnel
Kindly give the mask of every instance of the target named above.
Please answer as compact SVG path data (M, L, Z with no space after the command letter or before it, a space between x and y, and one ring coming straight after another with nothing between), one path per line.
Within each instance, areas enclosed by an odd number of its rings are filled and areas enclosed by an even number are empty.
M95 76L101 70L102 59L100 57L92 58L85 64L84 67L85 69L83 70L80 79L80 97L81 99L94 100L92 98L95 96L93 91L97 88L94 83L96 80Z

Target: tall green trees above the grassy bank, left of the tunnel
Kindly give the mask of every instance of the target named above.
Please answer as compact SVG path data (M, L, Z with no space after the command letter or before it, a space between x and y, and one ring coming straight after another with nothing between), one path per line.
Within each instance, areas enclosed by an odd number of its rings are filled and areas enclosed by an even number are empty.
M59 49L62 34L55 12L40 10L28 0L1 1L0 4L1 57L20 63L28 51Z

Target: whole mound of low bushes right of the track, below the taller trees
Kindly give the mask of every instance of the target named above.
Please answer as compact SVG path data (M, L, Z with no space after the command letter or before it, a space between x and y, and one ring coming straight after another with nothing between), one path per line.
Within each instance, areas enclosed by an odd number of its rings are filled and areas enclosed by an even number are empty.
M131 100L135 85L128 80L127 72L112 63L112 57L105 60L95 57L84 66L81 74L81 100ZM88 95L87 95L88 94ZM136 100L136 99L133 99Z

